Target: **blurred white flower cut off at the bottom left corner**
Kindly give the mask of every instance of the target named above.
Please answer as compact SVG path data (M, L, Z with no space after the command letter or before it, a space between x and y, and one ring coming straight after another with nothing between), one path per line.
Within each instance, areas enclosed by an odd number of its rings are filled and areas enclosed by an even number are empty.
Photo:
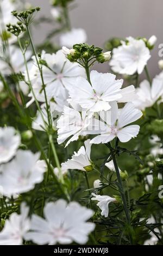
M22 203L21 214L18 215L14 212L10 215L0 232L0 245L22 245L24 236L30 229L28 212L29 208Z

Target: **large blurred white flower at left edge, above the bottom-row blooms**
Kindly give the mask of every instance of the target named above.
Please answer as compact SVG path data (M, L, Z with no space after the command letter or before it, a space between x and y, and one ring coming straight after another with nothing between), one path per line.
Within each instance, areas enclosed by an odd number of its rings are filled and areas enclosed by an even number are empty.
M39 158L40 153L18 150L14 160L1 166L0 180L4 195L28 192L43 180L46 163Z

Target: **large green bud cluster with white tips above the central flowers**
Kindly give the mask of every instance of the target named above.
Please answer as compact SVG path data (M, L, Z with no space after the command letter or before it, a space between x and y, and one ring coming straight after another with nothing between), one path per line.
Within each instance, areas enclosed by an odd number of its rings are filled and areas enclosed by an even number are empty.
M103 53L102 48L95 47L94 45L88 44L76 44L72 49L68 49L65 46L62 47L67 59L70 62L78 62L78 60L84 60L84 62L89 62L93 58L97 60L98 63L104 63L111 58L111 52Z

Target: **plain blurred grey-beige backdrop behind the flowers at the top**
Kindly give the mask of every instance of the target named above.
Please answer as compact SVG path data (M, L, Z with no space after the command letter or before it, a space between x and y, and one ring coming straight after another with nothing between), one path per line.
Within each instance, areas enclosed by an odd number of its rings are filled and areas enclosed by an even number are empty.
M40 6L40 16L51 16L49 0L29 0L32 5ZM75 5L74 5L75 3ZM113 36L144 36L147 39L156 35L158 41L148 62L152 76L158 74L159 44L163 44L162 0L76 0L70 11L71 25L84 28L87 42L104 47L104 42ZM55 21L54 21L55 26ZM52 25L43 23L34 30L36 43L41 43L52 29ZM57 42L57 38L53 41ZM163 57L162 57L163 58ZM98 71L108 71L108 64L96 66Z

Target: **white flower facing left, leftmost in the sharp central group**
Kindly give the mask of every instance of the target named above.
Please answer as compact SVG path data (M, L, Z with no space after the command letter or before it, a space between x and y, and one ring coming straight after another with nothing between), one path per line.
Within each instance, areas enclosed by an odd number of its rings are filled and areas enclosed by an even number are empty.
M67 138L71 137L66 146L72 142L77 141L79 135L85 136L88 132L87 129L91 123L92 114L87 114L86 111L76 111L70 107L64 107L64 113L61 115L57 122L58 128L58 144L66 141Z

